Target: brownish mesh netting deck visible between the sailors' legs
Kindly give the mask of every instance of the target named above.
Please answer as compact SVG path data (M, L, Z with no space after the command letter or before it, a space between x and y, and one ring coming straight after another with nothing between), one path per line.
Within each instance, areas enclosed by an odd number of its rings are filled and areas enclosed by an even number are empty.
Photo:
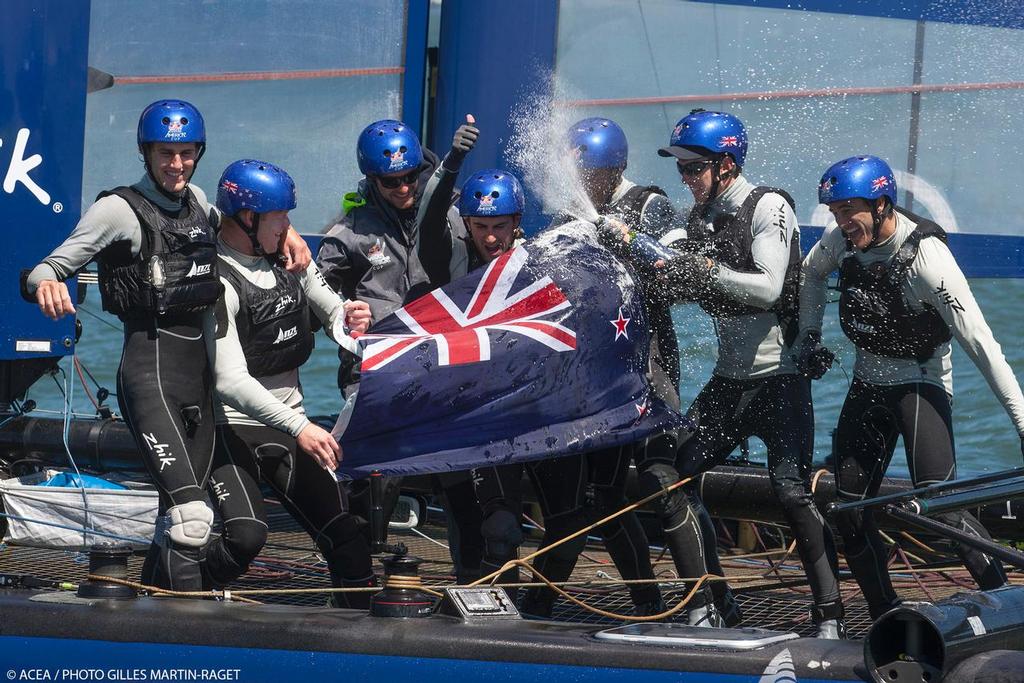
M322 605L327 595L322 589L329 587L327 565L316 552L309 537L279 506L269 505L270 535L263 553L250 571L230 588L232 590L306 589L300 593L268 593L249 595L260 602ZM437 520L428 517L420 528L392 531L391 542L401 541L412 555L424 560L420 573L427 586L445 586L454 583L452 563L444 546L444 528ZM536 549L536 540L523 546L522 554ZM776 550L777 549L769 549ZM655 573L663 582L663 591L669 604L678 601L685 592L676 582L670 558L652 549ZM779 560L782 560L779 562ZM129 563L129 577L137 581L142 558L135 556ZM739 554L729 551L723 556L723 565L730 577L743 577L732 582L733 591L743 611L743 625L793 631L802 636L814 633L809 621L810 594L803 582L804 574L796 554L784 558L780 553L766 556L762 553ZM953 564L947 570L927 569L910 571L906 566L892 565L894 583L902 597L910 600L935 600L951 595L964 588L971 588L966 572ZM39 579L78 583L87 573L86 555L59 550L0 546L0 571L28 574ZM381 567L377 565L378 572ZM847 606L847 629L850 637L861 637L870 625L863 600L849 572L842 572L842 588ZM632 606L629 593L622 585L608 580L618 579L614 565L599 545L588 546L572 575L573 582L589 582L573 586L569 592L584 602L600 609L629 613ZM523 580L526 578L523 575ZM1016 581L1024 581L1020 575ZM786 584L781 586L780 584ZM683 612L680 612L682 614ZM566 600L555 606L556 621L608 625L616 622L595 614ZM676 618L682 618L677 614Z

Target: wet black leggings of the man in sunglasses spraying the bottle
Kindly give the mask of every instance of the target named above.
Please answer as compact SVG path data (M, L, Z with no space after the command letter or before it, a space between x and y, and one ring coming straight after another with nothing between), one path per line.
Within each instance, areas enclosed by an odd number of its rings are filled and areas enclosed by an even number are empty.
M676 461L679 477L696 476L725 462L744 438L760 438L768 452L768 475L797 541L815 605L825 617L840 613L836 548L810 493L814 416L810 381L797 375L757 380L712 377L687 412L696 431ZM655 454L656 456L656 454ZM653 468L665 465L655 460ZM714 526L696 488L674 492L662 508L677 570L698 577L721 573ZM713 585L713 588L717 586Z

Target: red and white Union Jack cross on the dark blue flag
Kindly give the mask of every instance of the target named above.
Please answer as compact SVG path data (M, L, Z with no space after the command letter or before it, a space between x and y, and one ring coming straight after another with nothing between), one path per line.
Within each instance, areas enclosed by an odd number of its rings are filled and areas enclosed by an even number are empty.
M371 341L362 353L362 372L388 365L424 341L437 347L438 366L459 366L490 359L488 332L511 332L554 351L572 351L575 332L551 319L571 310L571 304L548 276L512 293L528 254L518 247L490 262L465 309L442 290L434 290L395 311L408 335L364 335ZM564 317L564 313L561 315Z

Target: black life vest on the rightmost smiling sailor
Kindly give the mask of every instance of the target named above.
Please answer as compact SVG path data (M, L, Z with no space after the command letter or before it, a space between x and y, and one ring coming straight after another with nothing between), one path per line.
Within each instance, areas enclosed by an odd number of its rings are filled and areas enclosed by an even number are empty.
M839 270L839 321L843 332L858 348L890 358L925 362L952 339L949 326L935 308L912 310L903 295L906 273L918 257L921 241L946 233L933 221L897 208L918 224L888 262L864 266L847 241Z

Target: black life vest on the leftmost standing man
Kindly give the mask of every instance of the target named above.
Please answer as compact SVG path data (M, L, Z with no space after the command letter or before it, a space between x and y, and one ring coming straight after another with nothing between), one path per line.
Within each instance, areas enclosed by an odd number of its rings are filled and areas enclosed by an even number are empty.
M122 319L193 313L220 298L223 287L217 276L216 236L190 189L185 188L176 215L131 187L115 187L96 199L109 195L117 195L131 207L142 228L142 244L137 257L132 257L124 243L111 245L97 256L103 310Z

